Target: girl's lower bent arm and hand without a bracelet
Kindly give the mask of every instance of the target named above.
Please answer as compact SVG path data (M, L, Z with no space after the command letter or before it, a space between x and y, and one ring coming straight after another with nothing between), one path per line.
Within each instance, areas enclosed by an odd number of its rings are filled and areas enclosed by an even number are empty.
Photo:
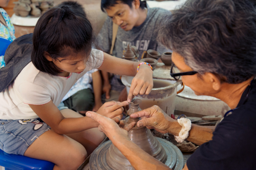
M97 113L107 116L111 119L116 116L121 119L124 110L122 106L127 104L127 101L122 103L107 102L104 103L104 105L98 110ZM65 118L61 114L60 110L54 105L52 100L49 103L43 105L29 104L29 106L47 125L49 125L58 134L76 133L99 126L99 123L88 117Z

